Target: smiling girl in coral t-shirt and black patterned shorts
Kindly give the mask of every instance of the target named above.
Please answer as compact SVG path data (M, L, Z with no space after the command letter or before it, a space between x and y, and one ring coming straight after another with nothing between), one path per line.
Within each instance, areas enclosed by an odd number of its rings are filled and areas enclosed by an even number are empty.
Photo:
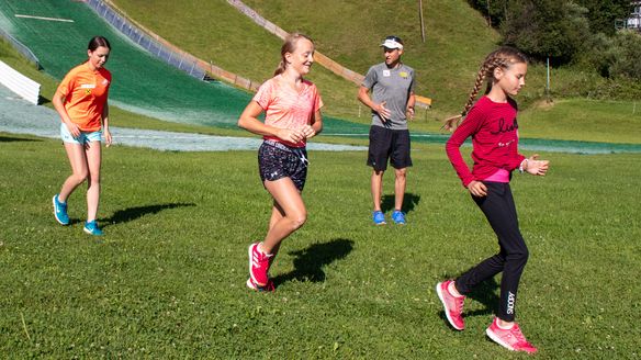
M273 198L269 229L262 241L249 246L249 279L254 290L273 290L268 271L281 241L307 220L301 196L307 177L308 138L320 133L323 101L316 86L303 76L314 64L314 43L291 34L281 48L281 63L238 119L238 126L258 135L260 179ZM265 112L265 123L258 116Z

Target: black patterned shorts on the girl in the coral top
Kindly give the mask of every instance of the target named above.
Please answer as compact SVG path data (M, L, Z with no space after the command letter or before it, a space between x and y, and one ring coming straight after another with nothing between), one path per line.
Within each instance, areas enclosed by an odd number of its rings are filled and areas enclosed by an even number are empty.
M290 178L299 191L303 191L307 179L307 150L284 144L265 140L258 149L260 180L274 181Z

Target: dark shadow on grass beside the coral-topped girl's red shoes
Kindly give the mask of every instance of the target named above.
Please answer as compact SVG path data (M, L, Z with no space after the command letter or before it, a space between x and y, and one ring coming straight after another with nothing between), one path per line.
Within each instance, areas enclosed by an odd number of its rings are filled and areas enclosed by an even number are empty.
M347 239L334 239L329 243L313 244L306 249L292 251L294 270L273 278L273 285L278 288L285 281L325 281L323 267L336 260L345 258L353 249L353 241Z

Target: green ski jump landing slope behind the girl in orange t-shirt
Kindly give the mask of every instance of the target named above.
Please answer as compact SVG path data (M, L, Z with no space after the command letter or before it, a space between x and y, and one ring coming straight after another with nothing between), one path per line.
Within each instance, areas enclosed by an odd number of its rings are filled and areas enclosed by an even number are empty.
M154 117L191 124L235 126L251 99L220 82L191 78L157 60L117 33L87 4L69 0L0 1L0 26L40 58L58 80L87 59L87 44L103 35L112 45L110 102Z

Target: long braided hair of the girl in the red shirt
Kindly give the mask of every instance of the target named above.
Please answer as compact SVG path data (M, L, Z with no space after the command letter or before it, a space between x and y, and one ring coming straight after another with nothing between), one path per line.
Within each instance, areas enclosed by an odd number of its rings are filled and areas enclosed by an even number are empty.
M490 53L490 55L485 57L485 60L481 65L479 72L476 72L476 81L474 81L474 88L472 88L472 91L470 92L470 97L468 98L468 102L465 103L463 111L461 112L460 115L447 119L443 128L451 132L454 128L457 128L457 126L459 126L459 124L462 122L465 115L468 115L470 109L472 109L474 100L479 94L479 90L483 85L483 81L487 82L487 87L485 88L485 94L487 94L492 90L494 70L496 68L501 67L507 69L510 65L517 63L527 64L528 59L521 52L517 50L514 47L503 46Z

